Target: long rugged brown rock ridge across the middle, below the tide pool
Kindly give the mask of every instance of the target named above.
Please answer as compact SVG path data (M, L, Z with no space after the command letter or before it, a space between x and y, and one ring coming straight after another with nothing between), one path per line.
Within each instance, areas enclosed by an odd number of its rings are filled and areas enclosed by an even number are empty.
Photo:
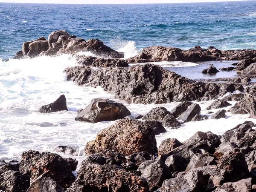
M78 85L102 86L105 91L125 99L128 103L214 100L227 92L244 90L238 83L195 82L152 64L97 70L75 66L65 69L65 72L67 80Z

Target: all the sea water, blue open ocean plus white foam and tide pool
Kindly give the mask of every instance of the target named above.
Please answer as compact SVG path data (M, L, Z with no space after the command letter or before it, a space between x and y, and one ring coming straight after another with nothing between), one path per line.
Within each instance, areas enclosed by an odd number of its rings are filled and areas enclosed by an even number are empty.
M4 62L21 49L24 41L47 38L52 31L64 29L85 40L102 40L113 49L125 52L126 58L152 45L256 49L256 1L146 5L0 3L0 19L0 159L5 160L20 160L22 152L29 149L57 152L57 146L70 146L78 150L78 156L58 153L81 163L87 141L94 140L97 132L114 123L75 121L77 110L93 98L124 103L132 114L142 115L156 106L171 110L178 104L128 104L100 87L76 86L63 73L67 66L77 65L67 54ZM195 80L236 76L236 72L202 75L201 70L209 63L219 68L232 62L156 64ZM62 94L67 97L69 111L38 113L42 105ZM207 115L206 108L211 102L196 102L202 108L202 115ZM184 123L180 129L167 128L166 133L157 135L157 145L166 138L182 142L196 131L223 134L245 120L251 119L248 115L227 114L226 119Z

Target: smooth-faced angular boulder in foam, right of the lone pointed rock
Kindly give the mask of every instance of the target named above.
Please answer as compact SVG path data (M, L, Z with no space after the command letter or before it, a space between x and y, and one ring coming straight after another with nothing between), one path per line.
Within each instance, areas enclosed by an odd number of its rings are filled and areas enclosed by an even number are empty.
M89 105L81 111L76 120L98 123L122 119L131 112L122 104L109 99L93 99Z

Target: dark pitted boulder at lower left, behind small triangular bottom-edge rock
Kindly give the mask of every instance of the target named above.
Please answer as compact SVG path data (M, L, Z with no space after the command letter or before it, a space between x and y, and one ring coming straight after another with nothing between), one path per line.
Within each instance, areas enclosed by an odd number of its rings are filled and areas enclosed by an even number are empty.
M39 153L32 150L23 152L19 169L23 174L29 175L32 181L47 172L49 177L64 189L67 189L75 181L70 163L61 156L50 152Z

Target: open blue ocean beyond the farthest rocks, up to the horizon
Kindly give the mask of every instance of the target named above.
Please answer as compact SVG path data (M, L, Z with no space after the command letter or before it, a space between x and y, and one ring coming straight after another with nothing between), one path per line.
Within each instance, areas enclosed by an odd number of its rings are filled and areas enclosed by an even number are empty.
M61 5L0 3L0 58L12 57L23 41L65 29L84 39L97 38L120 49L196 45L256 49L256 1Z

